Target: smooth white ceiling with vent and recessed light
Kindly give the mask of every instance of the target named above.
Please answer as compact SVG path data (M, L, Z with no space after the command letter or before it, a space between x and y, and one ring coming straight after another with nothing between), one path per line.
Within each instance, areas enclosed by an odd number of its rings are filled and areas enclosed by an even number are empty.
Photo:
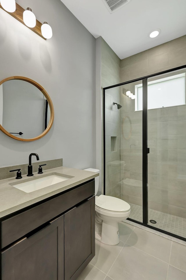
M186 0L131 0L110 14L102 0L61 0L95 37L102 36L120 59L186 34ZM161 29L149 38L153 29Z

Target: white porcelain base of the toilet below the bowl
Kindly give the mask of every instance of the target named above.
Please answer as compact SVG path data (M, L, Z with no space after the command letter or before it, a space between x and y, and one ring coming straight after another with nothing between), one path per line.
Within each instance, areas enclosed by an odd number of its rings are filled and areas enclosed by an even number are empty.
M116 245L119 243L118 222L103 221L102 224L96 222L95 238L104 244Z

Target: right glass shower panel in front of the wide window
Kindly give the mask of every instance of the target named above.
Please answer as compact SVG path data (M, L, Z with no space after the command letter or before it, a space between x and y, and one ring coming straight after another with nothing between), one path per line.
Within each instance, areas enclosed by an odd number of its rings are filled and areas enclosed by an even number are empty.
M148 224L186 237L185 68L148 78Z

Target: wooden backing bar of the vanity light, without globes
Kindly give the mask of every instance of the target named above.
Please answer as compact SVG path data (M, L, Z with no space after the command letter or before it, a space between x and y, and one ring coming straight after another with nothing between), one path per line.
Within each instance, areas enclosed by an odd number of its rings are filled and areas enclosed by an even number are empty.
M3 7L1 6L0 4L0 8L3 9ZM21 6L19 6L17 3L16 3L16 10L15 12L13 13L9 13L7 12L5 9L3 9L6 13L8 13L9 15L11 15L12 17L16 18L17 20L19 20L19 22L21 22L22 24L24 24L24 21L23 21L23 12L25 11L24 8L22 8ZM26 26L26 24L24 24ZM38 20L36 20L36 26L33 27L33 28L30 28L28 26L29 29L31 29L33 32L35 32L37 35L39 35L40 37L42 37L44 40L46 40L46 38L44 38L41 34L41 26L42 26L42 23L39 22Z

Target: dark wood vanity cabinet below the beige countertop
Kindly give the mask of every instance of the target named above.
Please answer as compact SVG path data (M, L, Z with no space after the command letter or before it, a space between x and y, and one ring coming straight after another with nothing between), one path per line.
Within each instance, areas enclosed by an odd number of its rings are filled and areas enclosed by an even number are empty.
M75 280L95 255L94 180L0 222L1 280Z

